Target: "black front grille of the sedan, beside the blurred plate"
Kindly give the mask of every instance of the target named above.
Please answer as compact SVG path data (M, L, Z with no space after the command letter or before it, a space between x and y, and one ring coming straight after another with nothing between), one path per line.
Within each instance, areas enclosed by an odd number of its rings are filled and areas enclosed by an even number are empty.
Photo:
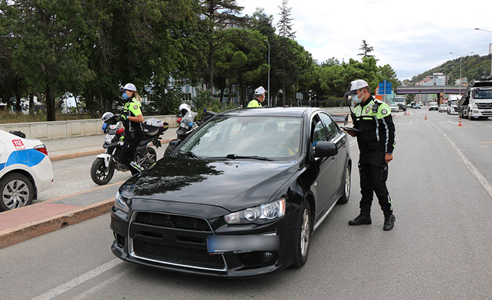
M178 267L225 271L222 255L209 255L213 235L205 219L155 212L134 212L129 251L134 258Z

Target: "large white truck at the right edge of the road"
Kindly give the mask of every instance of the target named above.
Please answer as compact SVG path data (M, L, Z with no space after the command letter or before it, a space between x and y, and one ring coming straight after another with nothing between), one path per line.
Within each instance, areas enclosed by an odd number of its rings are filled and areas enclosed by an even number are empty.
M458 101L459 117L486 119L492 117L492 76L482 76L468 84Z

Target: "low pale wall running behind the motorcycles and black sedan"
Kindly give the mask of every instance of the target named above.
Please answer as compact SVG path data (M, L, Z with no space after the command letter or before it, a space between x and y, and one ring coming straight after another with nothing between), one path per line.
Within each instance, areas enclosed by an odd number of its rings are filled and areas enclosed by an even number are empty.
M348 107L325 107L323 109L327 113L335 114L349 112ZM176 115L145 117L146 120L149 118L164 120L164 122L169 123L171 127L178 127ZM101 127L101 119L0 124L0 129L3 131L9 132L10 130L20 130L26 134L27 138L41 140L94 136L102 134Z

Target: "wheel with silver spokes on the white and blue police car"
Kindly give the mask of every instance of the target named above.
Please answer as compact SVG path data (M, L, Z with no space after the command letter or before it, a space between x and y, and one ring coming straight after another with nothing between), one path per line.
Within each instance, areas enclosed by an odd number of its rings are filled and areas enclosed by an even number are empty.
M0 193L0 211L4 212L33 203L34 187L25 175L10 173L0 180Z

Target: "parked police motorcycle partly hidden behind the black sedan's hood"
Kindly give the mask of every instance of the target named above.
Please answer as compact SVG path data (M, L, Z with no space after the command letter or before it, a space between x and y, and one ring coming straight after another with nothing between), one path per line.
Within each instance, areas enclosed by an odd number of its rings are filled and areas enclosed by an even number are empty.
M206 120L212 118L217 114L213 111L207 111L206 109L203 109L203 117L201 118L201 120L197 120L196 122L194 122L194 117L196 117L198 113L192 111L190 105L185 103L179 106L179 112L180 114L176 115L176 117L178 117L179 124L178 129L176 129L177 139L169 142L166 150L164 150L164 157L170 155L177 145L185 141L185 139L190 136L190 134L192 134L192 132L194 132L198 127L200 127L200 125L205 123Z

